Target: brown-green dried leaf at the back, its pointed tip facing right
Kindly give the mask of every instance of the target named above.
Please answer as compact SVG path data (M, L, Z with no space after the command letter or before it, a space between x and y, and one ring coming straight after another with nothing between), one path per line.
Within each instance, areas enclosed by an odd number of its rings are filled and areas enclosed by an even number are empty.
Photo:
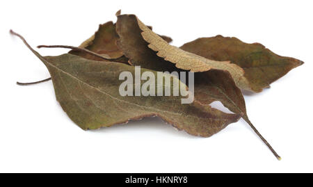
M287 74L303 62L295 58L278 56L262 44L247 44L237 38L217 35L199 38L184 44L180 49L212 60L230 60L245 71L253 91L261 92L273 81Z

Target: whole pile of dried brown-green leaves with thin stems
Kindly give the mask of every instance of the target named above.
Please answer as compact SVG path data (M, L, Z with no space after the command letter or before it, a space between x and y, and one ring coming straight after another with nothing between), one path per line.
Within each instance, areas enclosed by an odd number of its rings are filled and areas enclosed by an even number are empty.
M38 46L72 49L61 56L41 56L21 35L11 31L47 66L56 99L73 122L82 129L98 129L159 116L177 129L209 137L243 117L280 159L248 119L241 90L262 92L302 61L278 56L262 44L221 35L174 47L168 44L171 38L157 35L136 15L120 15L120 11L116 15L115 24L101 24L79 47ZM135 65L155 73L195 72L195 101L181 104L181 98L174 96L122 97L118 76L125 71L134 74ZM211 108L213 101L220 101L233 113Z

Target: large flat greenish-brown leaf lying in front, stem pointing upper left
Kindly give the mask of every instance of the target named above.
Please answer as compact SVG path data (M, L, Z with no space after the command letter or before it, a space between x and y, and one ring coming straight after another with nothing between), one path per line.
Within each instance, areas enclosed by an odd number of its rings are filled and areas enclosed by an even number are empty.
M24 38L18 36L31 49ZM72 54L43 57L37 51L31 51L49 70L56 99L63 110L82 129L110 127L157 115L177 129L207 137L240 117L198 103L180 104L180 97L122 97L118 89L122 83L119 74L124 71L134 74L134 67Z

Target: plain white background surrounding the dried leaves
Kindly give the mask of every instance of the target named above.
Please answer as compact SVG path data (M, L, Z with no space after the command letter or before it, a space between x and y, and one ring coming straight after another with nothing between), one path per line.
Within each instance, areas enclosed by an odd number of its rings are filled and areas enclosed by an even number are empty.
M1 1L0 172L313 172L312 1ZM31 46L78 46L115 12L134 13L181 46L199 37L235 36L305 62L270 89L245 95L255 127L243 120L211 138L147 118L83 131L63 112L46 67ZM65 49L39 49L59 55Z

